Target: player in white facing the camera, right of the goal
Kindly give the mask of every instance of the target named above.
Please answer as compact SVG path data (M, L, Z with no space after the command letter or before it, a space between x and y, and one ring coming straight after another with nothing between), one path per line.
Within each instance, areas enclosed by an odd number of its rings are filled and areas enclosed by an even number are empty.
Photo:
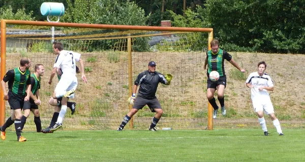
M264 118L264 112L270 116L273 125L277 128L277 132L280 136L283 136L280 121L275 115L268 91L273 91L273 80L271 77L264 73L267 64L262 61L259 62L258 72L252 72L246 81L246 86L251 88L251 99L255 112L258 116L259 124L261 125L264 135L268 136L268 130L266 127L266 121Z

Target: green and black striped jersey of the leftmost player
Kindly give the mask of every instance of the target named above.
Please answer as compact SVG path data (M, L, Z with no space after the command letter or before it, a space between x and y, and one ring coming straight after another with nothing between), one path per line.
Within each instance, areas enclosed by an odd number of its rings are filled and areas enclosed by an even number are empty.
M6 73L3 81L9 82L9 91L16 95L24 96L26 85L31 85L30 75L31 72L28 69L22 72L19 67L16 67Z

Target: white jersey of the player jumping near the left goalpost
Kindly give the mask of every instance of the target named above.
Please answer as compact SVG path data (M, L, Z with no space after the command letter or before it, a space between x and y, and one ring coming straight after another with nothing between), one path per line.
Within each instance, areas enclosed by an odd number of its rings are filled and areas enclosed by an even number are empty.
M79 61L79 59L79 53L66 50L60 51L53 68L60 67L65 76L76 76L76 61Z

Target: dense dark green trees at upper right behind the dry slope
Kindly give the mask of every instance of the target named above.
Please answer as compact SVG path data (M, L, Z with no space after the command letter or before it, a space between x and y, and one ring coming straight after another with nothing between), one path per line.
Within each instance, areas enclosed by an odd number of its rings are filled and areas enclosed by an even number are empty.
M202 16L228 51L235 45L236 51L304 53L304 6L301 0L206 1Z

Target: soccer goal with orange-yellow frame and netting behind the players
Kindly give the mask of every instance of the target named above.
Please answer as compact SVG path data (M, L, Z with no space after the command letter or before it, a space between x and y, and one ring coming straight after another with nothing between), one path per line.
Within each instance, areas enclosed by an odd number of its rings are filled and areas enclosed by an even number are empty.
M164 110L157 127L212 129L212 108L207 108L203 67L213 38L212 28L1 20L1 78L7 70L19 66L22 57L45 67L39 106L44 128L54 111L48 100L58 82L54 77L53 84L48 85L55 61L51 26L55 26L55 41L62 42L64 50L82 54L88 79L88 84L84 84L77 74L79 85L75 99L71 99L77 103L77 112L71 115L67 111L65 129L116 129L131 109L127 99L137 75L147 70L151 60L156 62L157 71L173 74L171 85L159 85L156 94ZM1 90L0 98L3 97ZM3 125L10 116L10 106L4 100L0 102ZM153 116L145 106L126 129L147 129ZM24 129L35 130L33 118L33 114L28 117Z

